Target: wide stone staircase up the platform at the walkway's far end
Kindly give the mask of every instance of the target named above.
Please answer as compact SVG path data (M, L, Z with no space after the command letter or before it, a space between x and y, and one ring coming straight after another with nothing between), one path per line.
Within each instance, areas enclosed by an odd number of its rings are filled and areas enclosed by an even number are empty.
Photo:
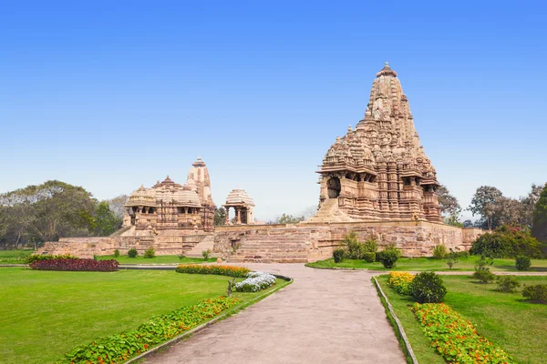
M269 234L246 235L234 254L233 263L306 263L310 244L309 232L296 227L278 228Z

